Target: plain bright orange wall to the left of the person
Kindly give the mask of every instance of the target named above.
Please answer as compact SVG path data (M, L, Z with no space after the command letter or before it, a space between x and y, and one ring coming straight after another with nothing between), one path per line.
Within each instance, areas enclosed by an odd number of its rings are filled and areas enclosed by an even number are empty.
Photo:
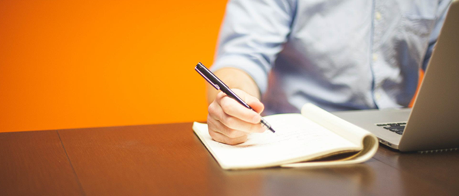
M0 132L205 121L225 4L0 1Z

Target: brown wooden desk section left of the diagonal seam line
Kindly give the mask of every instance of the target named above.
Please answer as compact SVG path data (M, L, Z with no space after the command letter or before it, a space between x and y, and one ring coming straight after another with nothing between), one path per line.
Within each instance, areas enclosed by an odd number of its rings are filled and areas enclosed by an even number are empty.
M0 195L84 195L57 131L0 133Z

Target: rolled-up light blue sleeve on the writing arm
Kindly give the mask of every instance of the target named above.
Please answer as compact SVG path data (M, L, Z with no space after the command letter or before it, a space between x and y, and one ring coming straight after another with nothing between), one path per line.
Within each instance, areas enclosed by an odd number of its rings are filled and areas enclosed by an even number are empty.
M230 0L211 70L241 69L264 93L268 73L290 33L295 7L289 0Z

